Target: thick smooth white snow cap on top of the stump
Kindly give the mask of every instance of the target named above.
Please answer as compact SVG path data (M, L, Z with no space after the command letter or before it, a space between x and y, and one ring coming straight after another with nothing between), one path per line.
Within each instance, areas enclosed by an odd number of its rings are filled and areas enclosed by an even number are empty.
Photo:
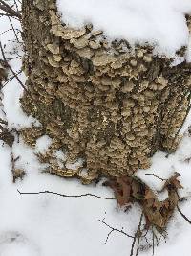
M57 6L67 25L80 28L92 23L109 40L149 42L157 53L169 57L188 45L184 14L191 12L190 0L57 0Z

